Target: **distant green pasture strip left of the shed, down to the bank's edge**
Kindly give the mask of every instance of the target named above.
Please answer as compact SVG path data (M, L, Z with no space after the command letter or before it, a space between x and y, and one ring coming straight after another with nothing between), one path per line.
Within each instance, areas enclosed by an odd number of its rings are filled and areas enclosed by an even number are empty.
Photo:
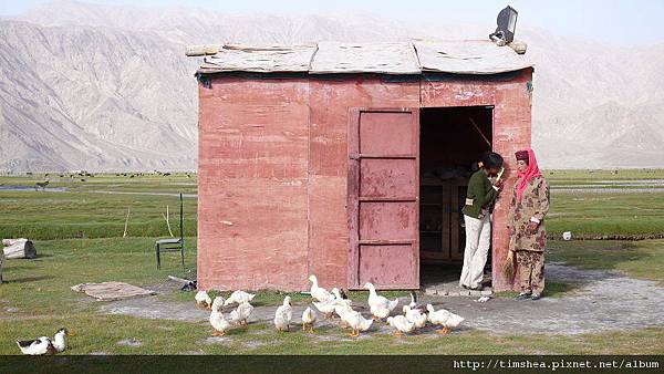
M179 236L179 197L184 199L185 235L196 236L196 176L146 175L134 178L97 175L79 178L53 178L49 188L65 191L0 189L0 237L31 239L112 238L124 233L127 209L128 237ZM34 186L43 176L0 177L0 188ZM155 195L162 194L162 195Z

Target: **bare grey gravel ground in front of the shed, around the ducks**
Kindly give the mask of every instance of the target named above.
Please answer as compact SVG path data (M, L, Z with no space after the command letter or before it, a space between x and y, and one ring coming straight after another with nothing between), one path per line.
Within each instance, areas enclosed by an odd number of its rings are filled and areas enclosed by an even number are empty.
M422 295L419 303L430 302L436 309L445 308L463 315L466 322L459 330L477 329L497 334L581 334L664 325L661 312L664 288L656 282L610 271L579 270L559 263L547 264L547 279L573 283L575 289L569 294L544 297L538 301L492 298L479 303L477 298L469 297ZM403 298L402 301L397 308L400 311L401 305L409 302L409 299ZM365 301L354 300L353 305L365 315L370 314ZM249 322L264 323L271 328L276 308L257 307ZM293 323L300 322L304 308L307 303L303 302L293 305ZM101 310L111 314L188 322L205 322L209 316L209 312L197 310L194 301L164 301L157 297L110 302L102 305ZM324 320L319 314L317 329L333 329L335 324L335 320ZM386 333L390 329L376 324L371 332Z

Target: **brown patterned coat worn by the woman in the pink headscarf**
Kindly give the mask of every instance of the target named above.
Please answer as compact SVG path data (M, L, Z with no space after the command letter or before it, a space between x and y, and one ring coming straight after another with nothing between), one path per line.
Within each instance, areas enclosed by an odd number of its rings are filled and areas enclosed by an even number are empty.
M543 252L547 245L544 216L548 211L549 185L543 177L535 177L528 181L521 201L517 201L517 186L515 186L507 216L511 238L509 248L513 251ZM528 230L531 220L539 220L535 233Z

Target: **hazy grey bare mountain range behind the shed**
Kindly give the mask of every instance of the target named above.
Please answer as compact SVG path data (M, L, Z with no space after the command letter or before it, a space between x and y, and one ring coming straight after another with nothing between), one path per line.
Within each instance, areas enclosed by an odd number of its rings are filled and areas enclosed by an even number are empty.
M196 169L188 44L485 39L492 25L371 13L234 14L55 1L0 19L0 172ZM664 43L616 46L519 27L548 168L664 166Z

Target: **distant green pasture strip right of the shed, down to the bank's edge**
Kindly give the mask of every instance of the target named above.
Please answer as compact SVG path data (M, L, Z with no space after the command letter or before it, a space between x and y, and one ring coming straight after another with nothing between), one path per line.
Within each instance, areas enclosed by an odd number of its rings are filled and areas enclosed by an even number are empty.
M548 170L543 175L551 185L549 237L560 238L563 231L584 239L663 237L664 169Z

